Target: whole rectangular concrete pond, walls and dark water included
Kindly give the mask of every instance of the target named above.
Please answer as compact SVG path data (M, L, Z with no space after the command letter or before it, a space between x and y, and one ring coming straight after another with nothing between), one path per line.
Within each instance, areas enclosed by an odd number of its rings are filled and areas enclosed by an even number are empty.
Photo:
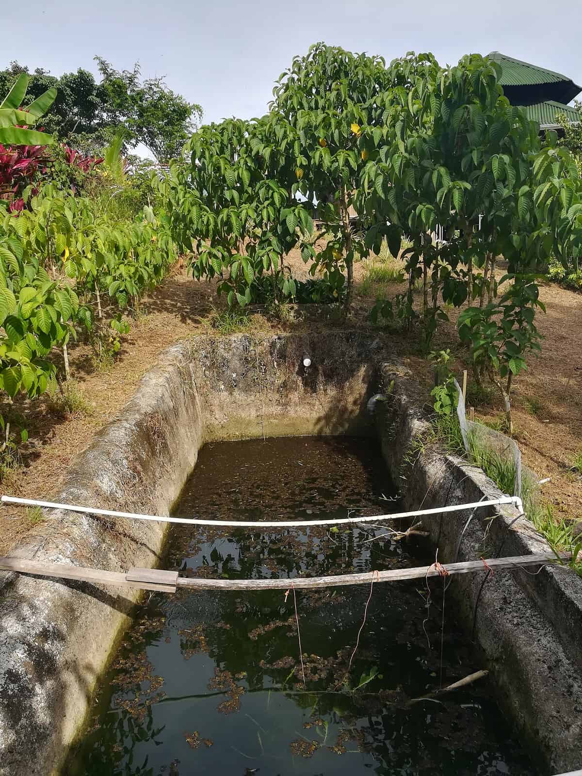
M386 400L370 412L376 393ZM199 337L147 372L54 501L260 519L500 497L480 470L415 445L427 424L414 376L376 334ZM382 525L168 534L161 522L46 516L43 535L14 556L293 578L419 566L437 550L445 564L548 551L511 506L469 524L466 510L422 518L427 535L404 542ZM563 567L536 571L496 570L483 584L483 568L295 601L144 597L2 573L0 774L573 771L582 585ZM485 679L418 702L480 669Z

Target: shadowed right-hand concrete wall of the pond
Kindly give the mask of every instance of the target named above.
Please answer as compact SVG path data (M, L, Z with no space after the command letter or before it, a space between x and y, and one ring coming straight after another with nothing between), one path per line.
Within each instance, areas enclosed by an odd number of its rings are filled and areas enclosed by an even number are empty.
M405 508L438 507L499 497L500 491L480 469L461 459L416 445L428 430L418 387L407 369L385 365L383 377L391 399L380 405L379 435L393 480L400 483ZM412 445L412 447L411 447ZM407 452L409 456L407 457ZM444 518L424 518L424 528L438 546L438 559L452 562L467 511ZM490 519L494 518L494 519ZM459 545L458 559L546 552L546 542L513 508L479 509ZM510 527L511 526L511 527ZM580 648L580 580L564 569L499 572L483 583L484 573L452 580L449 594L469 632L474 634L501 705L515 720L528 745L552 772L580 766L582 677ZM574 613L574 616L573 616ZM570 618L572 618L570 620ZM576 636L577 634L577 636Z

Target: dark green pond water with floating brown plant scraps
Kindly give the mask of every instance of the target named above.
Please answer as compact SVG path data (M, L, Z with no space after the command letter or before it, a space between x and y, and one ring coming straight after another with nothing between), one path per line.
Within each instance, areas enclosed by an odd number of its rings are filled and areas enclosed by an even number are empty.
M177 514L328 518L397 511L375 442L284 438L206 445ZM393 524L389 524L393 525ZM396 527L396 526L395 526ZM386 528L268 532L175 526L165 568L296 577L430 563ZM454 584L454 583L453 583ZM297 591L152 594L95 702L69 776L520 774L537 771L487 681L411 699L479 670L449 594L431 580ZM303 651L300 664L298 636ZM303 684L303 673L305 684Z

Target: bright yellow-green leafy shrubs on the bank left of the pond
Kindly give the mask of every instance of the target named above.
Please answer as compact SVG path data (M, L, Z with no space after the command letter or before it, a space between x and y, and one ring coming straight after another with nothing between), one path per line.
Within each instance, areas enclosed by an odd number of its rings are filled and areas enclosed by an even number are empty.
M91 200L50 185L29 205L0 221L0 388L10 397L47 390L52 349L92 330L101 295L136 305L175 256L157 221L110 223Z

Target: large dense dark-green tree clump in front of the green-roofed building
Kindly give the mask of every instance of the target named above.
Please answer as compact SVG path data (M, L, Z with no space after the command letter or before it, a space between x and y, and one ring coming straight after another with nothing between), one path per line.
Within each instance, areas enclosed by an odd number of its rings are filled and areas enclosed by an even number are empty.
M432 58L405 57L390 69L393 82L404 76L407 86L385 95L389 143L364 172L365 205L376 214L369 239L386 220L411 235L404 312L416 315L412 287L421 279L425 345L445 317L439 296L456 307L468 300L459 335L471 347L476 379L487 375L499 388L511 431L512 379L525 355L539 350L536 273L551 255L580 251L580 178L555 133L541 147L539 126L509 104L487 58L437 68ZM431 236L437 224L445 244ZM498 255L508 261L499 299ZM390 304L378 309L393 313Z

